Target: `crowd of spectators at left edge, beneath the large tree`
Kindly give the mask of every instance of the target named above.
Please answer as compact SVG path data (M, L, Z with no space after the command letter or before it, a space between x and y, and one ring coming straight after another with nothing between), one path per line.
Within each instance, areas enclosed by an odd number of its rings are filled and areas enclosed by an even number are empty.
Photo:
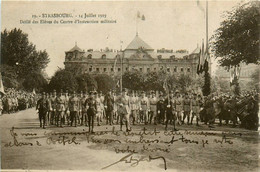
M0 115L35 107L37 99L37 95L33 92L6 89L4 94L0 93Z

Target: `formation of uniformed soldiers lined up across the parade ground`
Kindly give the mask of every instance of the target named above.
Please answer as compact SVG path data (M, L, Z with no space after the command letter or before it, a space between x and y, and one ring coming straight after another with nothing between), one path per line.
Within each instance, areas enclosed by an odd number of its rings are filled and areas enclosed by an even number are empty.
M56 94L43 94L37 102L36 109L39 110L40 126L45 128L46 124L62 127L67 123L70 126L85 125L89 126L89 131L93 132L94 120L97 125L101 125L102 120L113 125L114 122L120 123L120 130L123 124L126 125L126 131L130 131L130 123L155 124L165 123L165 129L168 124L184 124L187 118L187 124L191 125L196 117L199 125L199 113L203 105L202 97L198 94L181 96L179 91L171 91L168 96L160 94L156 96L152 91L149 97L145 92L138 96L134 91L129 93L126 89L119 95L110 90L106 95L91 91L89 94L81 92L77 95L73 92L69 96L68 91L62 90Z

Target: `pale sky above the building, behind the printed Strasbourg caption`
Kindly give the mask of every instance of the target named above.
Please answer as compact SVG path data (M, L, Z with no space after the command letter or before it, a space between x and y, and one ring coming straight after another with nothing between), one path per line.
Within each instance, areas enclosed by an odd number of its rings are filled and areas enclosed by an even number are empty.
M220 26L225 11L232 10L241 1L209 1L209 38ZM50 63L46 72L51 77L58 68L63 68L65 51L75 43L87 49L123 49L136 35L152 48L186 49L192 52L205 40L205 1L2 1L1 30L20 28L28 34L29 41L37 50L46 50ZM136 20L137 13L145 20ZM68 13L72 18L64 21L91 20L79 18L85 14L105 14L107 24L25 24L21 20L33 20L32 15ZM92 18L93 19L93 18ZM97 19L97 18L94 18ZM103 20L98 18L99 21ZM35 19L39 20L39 18ZM54 20L48 18L47 20ZM56 19L60 22L61 18ZM138 26L138 27L137 27ZM213 72L216 61L213 61Z

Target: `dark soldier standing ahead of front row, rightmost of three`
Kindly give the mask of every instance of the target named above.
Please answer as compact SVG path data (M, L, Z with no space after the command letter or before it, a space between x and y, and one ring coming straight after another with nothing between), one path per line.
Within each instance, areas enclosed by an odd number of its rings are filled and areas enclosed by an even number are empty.
M176 113L175 113L175 101L173 98L173 92L170 92L170 95L167 96L166 100L164 101L164 104L166 106L166 122L165 122L165 130L167 130L168 122L173 120L173 127L174 130L177 131L175 128L175 122L176 122Z

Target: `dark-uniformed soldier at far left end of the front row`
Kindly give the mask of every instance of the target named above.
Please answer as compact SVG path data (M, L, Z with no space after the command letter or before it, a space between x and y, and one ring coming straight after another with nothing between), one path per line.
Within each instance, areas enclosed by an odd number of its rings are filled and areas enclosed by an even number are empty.
M46 99L46 95L43 92L42 93L42 98L40 98L37 101L37 105L36 105L36 110L39 111L39 120L40 120L40 127L43 127L45 129L45 125L46 125L46 115L48 112L48 101Z

